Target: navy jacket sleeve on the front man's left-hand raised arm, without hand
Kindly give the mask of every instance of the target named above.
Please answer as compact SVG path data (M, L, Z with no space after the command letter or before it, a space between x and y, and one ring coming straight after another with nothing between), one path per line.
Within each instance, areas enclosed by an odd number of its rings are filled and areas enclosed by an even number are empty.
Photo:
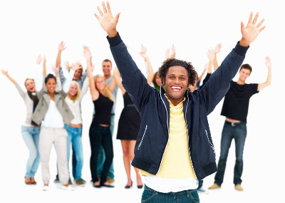
M133 61L130 53L128 53L127 47L120 38L119 33L115 37L107 38L113 58L122 77L123 87L130 95L130 98L132 98L137 110L141 112L153 88L147 84L147 79L143 76L135 61Z

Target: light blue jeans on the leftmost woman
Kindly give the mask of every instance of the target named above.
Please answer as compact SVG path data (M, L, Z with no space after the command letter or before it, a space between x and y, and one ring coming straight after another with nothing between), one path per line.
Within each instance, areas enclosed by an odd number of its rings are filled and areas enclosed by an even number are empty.
M30 155L26 165L26 177L35 177L36 170L40 163L40 153L38 152L38 138L41 127L21 126L21 133Z

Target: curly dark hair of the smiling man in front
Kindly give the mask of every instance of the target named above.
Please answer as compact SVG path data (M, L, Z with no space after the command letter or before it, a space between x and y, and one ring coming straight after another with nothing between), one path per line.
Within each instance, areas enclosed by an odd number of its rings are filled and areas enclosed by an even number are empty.
M158 70L158 75L162 81L162 85L165 85L165 77L168 69L171 66L182 66L186 68L188 72L188 85L195 85L195 80L197 78L197 72L190 62L178 60L176 58L167 58L163 61L162 66Z

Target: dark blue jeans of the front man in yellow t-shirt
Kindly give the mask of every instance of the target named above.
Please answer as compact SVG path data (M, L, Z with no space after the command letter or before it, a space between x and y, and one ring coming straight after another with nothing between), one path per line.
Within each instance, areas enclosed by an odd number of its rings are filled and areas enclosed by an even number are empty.
M199 202L199 195L197 189L188 189L180 192L168 192L162 193L157 192L150 187L145 185L145 189L142 192L141 202L163 202L163 203L174 203L174 202Z

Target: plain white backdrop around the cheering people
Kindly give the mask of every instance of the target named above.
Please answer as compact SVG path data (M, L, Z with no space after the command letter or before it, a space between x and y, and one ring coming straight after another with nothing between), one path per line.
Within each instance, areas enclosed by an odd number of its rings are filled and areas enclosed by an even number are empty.
M147 47L152 65L157 71L165 59L165 50L175 43L177 58L191 61L198 73L207 63L206 52L222 43L219 63L241 38L240 21L247 24L250 11L260 12L266 19L266 29L252 43L244 63L253 67L247 83L266 80L264 57L272 61L272 83L254 95L249 105L248 133L244 148L244 192L234 190L234 143L229 152L224 184L219 191L200 195L201 202L284 202L284 100L281 83L284 75L284 7L281 1L111 1L113 14L121 12L118 31L128 44L133 59L144 72L143 59L139 55L140 44ZM95 73L102 74L101 61L111 56L106 33L100 28L93 13L100 1L1 1L0 3L0 58L1 68L8 69L22 88L24 80L34 76L36 56L45 54L48 72L56 62L58 43L66 42L62 53L64 61L81 61L83 45L93 53ZM237 77L234 79L237 80ZM51 190L42 192L41 169L36 174L35 187L24 184L28 150L21 137L21 124L26 116L25 105L4 76L0 76L0 192L5 202L140 202L142 190L123 189L126 175L120 141L116 140L118 118L123 108L123 98L118 92L116 124L113 135L115 189L76 187L65 192L53 184L56 175L56 153L52 150ZM93 103L87 93L82 102L83 110L83 179L90 180L90 145L88 130L93 113ZM219 159L219 142L224 117L220 114L222 102L209 115L209 125ZM133 172L133 181L135 175ZM214 175L204 179L209 187Z

